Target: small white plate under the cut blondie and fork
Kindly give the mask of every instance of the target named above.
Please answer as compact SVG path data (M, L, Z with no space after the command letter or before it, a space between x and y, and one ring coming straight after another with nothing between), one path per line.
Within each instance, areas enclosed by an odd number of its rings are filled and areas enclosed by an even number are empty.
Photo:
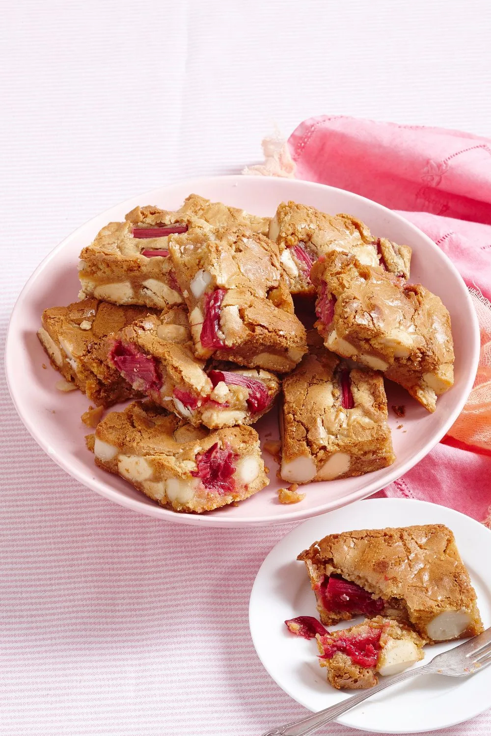
M484 627L491 626L491 532L445 506L399 498L374 498L310 519L283 537L264 560L250 595L252 641L261 662L286 693L318 711L353 695L326 682L314 640L290 634L283 623L300 615L317 616L314 592L297 554L326 534L364 528L445 524L478 596ZM362 619L356 619L361 621ZM339 624L336 629L346 627ZM425 647L423 665L455 646ZM348 711L340 723L377 733L433 731L467 721L491 706L491 668L466 678L423 675L385 690ZM271 723L271 727L280 723Z

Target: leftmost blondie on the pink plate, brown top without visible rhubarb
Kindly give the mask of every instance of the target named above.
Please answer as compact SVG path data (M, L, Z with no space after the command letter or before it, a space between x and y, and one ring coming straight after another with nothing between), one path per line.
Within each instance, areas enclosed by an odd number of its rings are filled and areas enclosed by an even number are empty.
M49 360L68 383L97 406L140 397L107 363L105 339L135 319L155 314L146 307L121 307L85 299L66 307L45 309L38 338Z

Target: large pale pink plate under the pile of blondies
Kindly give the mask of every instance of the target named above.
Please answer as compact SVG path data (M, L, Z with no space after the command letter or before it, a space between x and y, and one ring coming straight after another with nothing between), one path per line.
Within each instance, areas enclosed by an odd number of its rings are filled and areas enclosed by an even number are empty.
M54 384L60 376L49 367L36 337L43 309L77 301L77 261L82 247L90 243L107 222L124 219L136 205L152 204L174 209L191 192L222 200L260 215L275 213L279 202L295 199L328 212L349 212L364 220L374 236L386 236L413 248L411 274L438 294L451 313L455 343L455 385L439 397L437 411L428 414L400 386L386 382L389 406L405 404L403 420L389 411L389 424L397 461L391 467L361 478L345 478L308 486L302 503L278 502L276 465L271 457L271 484L239 506L227 506L208 514L177 514L146 498L122 478L94 465L85 449L88 429L80 422L88 400L80 392L63 394ZM52 459L74 478L97 493L135 511L168 521L200 526L271 524L305 519L344 506L383 488L406 473L434 447L450 428L473 385L479 356L479 330L466 286L451 261L417 227L369 199L341 189L309 182L269 177L213 177L174 184L122 202L78 230L58 245L30 277L13 310L7 334L5 365L10 393L17 411L35 440ZM403 429L396 427L403 424ZM261 439L278 436L274 412L256 425ZM284 485L284 482L283 482Z

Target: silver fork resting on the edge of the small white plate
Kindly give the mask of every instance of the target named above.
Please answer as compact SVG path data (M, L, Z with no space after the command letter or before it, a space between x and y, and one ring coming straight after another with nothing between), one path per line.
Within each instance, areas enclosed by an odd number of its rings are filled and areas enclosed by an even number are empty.
M267 731L263 736L307 736L307 734L311 734L321 726L324 726L325 723L330 723L336 718L339 718L339 715L342 715L347 710L351 710L358 703L370 698L374 693L380 693L386 687L403 682L403 680L408 680L410 677L428 674L465 677L479 670L484 670L488 665L491 665L491 628L486 629L482 634L478 634L463 644L453 647L453 649L444 651L442 654L437 654L437 657L431 659L431 662L423 665L423 667L417 667L413 670L406 670L398 675L393 675L392 677L386 677L383 682L379 682L368 690L361 690L360 693L356 693L356 695L343 700L341 703L331 705L330 708L325 708L325 710L319 710L318 713L310 715L308 718L302 718L300 721L278 726L276 729Z

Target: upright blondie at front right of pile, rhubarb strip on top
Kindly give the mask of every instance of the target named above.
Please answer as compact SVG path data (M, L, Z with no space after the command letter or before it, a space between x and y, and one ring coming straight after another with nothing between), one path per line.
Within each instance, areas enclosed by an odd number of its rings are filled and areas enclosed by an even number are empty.
M283 378L281 478L331 481L395 461L382 376L350 368L323 347Z

